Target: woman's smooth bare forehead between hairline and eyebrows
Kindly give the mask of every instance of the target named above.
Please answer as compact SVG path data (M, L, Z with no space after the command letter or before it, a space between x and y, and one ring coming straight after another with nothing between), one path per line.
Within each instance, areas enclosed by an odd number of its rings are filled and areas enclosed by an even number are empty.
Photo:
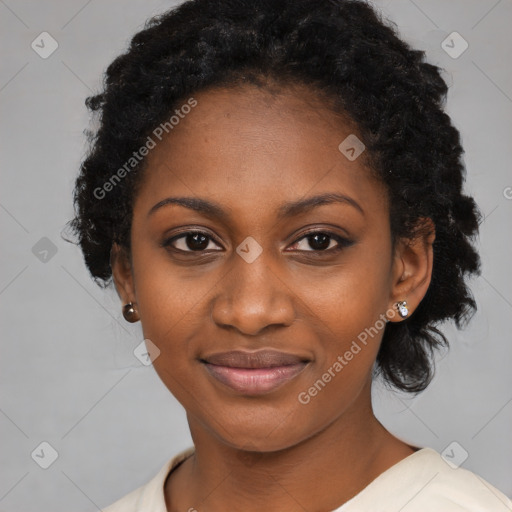
M339 149L358 136L353 123L307 88L213 89L194 100L147 156L138 208L186 195L211 198L234 215L270 215L283 202L325 192L386 206L364 152L351 161Z

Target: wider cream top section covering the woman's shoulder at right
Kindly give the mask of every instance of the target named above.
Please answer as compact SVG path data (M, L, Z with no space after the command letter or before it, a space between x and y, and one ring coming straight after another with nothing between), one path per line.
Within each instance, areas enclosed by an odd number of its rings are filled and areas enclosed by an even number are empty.
M423 448L382 473L339 512L512 512L512 501L475 473Z

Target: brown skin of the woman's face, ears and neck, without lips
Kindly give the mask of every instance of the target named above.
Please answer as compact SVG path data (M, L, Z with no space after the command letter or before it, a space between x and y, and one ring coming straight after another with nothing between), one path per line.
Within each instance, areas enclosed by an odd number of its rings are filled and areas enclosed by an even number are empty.
M165 483L169 511L324 511L341 506L415 448L375 418L371 374L383 330L311 398L307 391L393 304L410 314L431 279L434 235L393 248L385 189L338 145L357 129L304 87L272 94L245 85L194 96L197 106L147 157L135 198L131 254L114 245L114 283L136 304L153 365L186 410L195 454ZM361 138L361 137L360 137ZM324 204L280 218L284 203L317 194L357 202ZM168 204L215 201L225 219ZM425 219L428 222L428 219ZM187 238L209 236L203 253ZM328 238L326 249L309 230ZM262 253L236 252L253 237ZM193 241L192 241L193 242ZM315 250L316 249L316 250ZM315 257L316 253L316 257ZM271 348L310 360L293 380L262 396L223 386L198 358Z

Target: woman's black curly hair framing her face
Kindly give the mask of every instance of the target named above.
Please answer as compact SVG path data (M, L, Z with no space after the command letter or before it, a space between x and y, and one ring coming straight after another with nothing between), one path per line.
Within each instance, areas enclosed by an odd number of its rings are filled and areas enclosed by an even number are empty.
M387 324L376 364L399 390L425 389L434 349L448 345L438 324L453 319L461 328L469 320L476 303L466 277L480 273L472 242L481 215L462 192L463 149L443 110L441 72L362 0L188 0L150 19L107 68L103 91L86 100L99 128L69 224L91 275L108 286L112 244L130 248L145 160L108 190L105 183L187 98L269 80L308 86L358 127L388 190L393 243L417 235L422 218L435 225L428 291L413 315Z

